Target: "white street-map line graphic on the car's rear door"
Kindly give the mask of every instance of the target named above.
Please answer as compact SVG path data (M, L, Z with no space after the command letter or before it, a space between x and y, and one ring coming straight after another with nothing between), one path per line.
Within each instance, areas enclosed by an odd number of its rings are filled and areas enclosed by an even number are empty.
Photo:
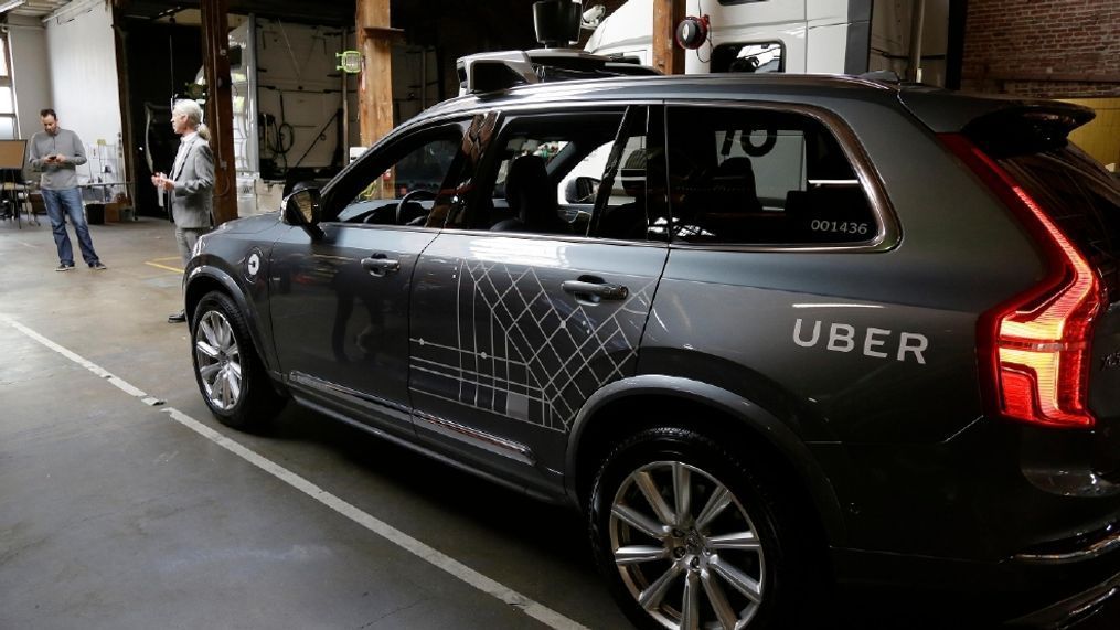
M556 431L633 369L657 281L585 308L532 266L463 261L457 278L456 330L409 340L413 389Z

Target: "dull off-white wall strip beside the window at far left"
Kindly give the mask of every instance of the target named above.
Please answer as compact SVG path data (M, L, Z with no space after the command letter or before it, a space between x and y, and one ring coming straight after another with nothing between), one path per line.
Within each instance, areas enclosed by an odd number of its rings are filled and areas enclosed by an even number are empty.
M19 138L41 131L39 110L50 103L50 69L47 63L47 31L43 22L25 16L8 16L11 47L11 81L16 88Z

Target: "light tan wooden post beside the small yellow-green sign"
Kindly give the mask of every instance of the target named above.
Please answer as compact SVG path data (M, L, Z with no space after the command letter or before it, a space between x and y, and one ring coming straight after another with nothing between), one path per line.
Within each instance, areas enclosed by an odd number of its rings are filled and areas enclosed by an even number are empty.
M389 1L357 0L355 30L362 53L357 111L363 147L371 147L393 129L392 40L399 31L390 27Z

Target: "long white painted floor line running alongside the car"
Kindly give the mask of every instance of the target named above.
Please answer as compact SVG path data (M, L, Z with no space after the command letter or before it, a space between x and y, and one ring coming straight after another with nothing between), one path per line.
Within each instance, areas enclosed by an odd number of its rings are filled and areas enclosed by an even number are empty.
M96 374L97 376L109 380L114 387L121 389L130 396L140 398L142 403L149 406L162 405L164 401L149 396L139 388L132 386L122 378L119 378L111 374L109 370L102 368L101 366L94 364L93 361L71 351L69 349L55 344L50 339L47 339L43 335L39 335L35 330L19 323L18 321L0 316L0 320L6 321L9 326L19 330L25 336L38 341L43 346L58 352L59 355L66 357L67 359L78 364L80 366L88 369L90 372ZM260 468L261 470L268 472L269 474L276 477L277 479L283 481L284 483L291 486L292 488L304 492L308 497L319 501L324 506L333 509L342 516L353 520L354 523L365 527L370 532L390 540L396 546L403 548L404 551L416 555L420 560L428 562L432 566L436 566L444 572L452 575L454 577L466 582L467 584L478 589L479 591L496 598L514 608L517 608L529 617L544 623L550 628L556 628L558 630L581 630L585 629L584 626L568 619L567 617L556 612L554 610L534 601L521 593L505 586L504 584L496 582L482 573L470 568L469 566L456 561L455 558L444 554L442 552L436 549L435 547L428 546L420 540L409 536L408 534L396 529L392 525L374 517L373 515L355 507L335 495L324 490L323 488L316 486L315 483L308 481L307 479L296 474L295 472L288 470L287 468L273 462L272 460L261 455L260 453L252 451L239 442L214 431L209 426L206 426L202 422L190 417L189 415L176 410L174 407L167 407L160 410L168 414L171 420L178 422L179 424L190 429L195 433L206 438L211 442L214 442L218 446L230 451L231 453L240 457L241 459L248 461L249 463Z

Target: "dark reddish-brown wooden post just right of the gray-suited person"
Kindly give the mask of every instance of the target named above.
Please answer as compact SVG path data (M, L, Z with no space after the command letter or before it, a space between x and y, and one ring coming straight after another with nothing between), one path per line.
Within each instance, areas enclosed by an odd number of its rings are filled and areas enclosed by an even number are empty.
M203 67L206 126L214 151L214 225L237 218L237 167L233 157L233 87L230 82L228 0L203 0Z

